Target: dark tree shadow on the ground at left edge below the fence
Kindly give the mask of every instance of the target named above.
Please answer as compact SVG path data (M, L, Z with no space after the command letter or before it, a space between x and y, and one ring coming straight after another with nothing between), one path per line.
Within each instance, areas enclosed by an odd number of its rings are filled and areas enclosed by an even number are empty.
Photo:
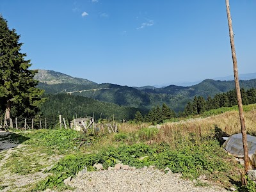
M26 138L20 134L0 131L0 152L9 148L17 147L17 145L26 140L29 140L29 138Z

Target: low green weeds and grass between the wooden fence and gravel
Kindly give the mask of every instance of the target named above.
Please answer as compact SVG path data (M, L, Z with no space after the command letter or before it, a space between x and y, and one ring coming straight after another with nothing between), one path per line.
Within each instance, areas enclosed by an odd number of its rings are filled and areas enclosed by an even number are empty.
M244 109L251 111L254 106L244 106ZM178 120L184 118L172 119L173 122ZM201 135L201 129L198 129L199 132L193 127L188 130L182 124L176 128L148 125L141 122L123 124L124 127L119 127L118 132L113 134L101 130L97 134L90 131L81 134L71 129L19 132L13 138L26 138L22 141L24 147L13 151L6 159L4 171L10 170L19 175L48 173L44 180L30 185L29 191L47 188L60 191L67 189L63 180L76 177L84 166L88 171L94 171L95 163L101 163L104 169L116 163L136 168L154 165L160 170L168 167L173 173L182 173L186 179L198 180L200 175L205 175L207 180L225 188L237 185L236 188L241 191L252 191L253 184L246 188L239 186L239 172L243 167L221 148L219 138L223 131L220 128L211 128L209 134ZM81 141L84 141L82 145ZM49 168L52 158L56 158L56 163ZM196 185L209 184L198 180ZM3 184L0 186L4 187Z

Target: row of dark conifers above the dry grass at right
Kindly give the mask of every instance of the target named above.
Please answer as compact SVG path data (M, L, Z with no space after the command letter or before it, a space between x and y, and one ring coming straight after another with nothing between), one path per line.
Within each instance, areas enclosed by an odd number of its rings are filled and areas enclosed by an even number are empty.
M241 97L243 105L255 104L256 103L256 89L250 88L245 90L241 88ZM189 101L184 111L180 111L178 114L170 109L166 104L163 104L162 108L156 106L148 111L144 116L140 111L136 111L134 115L135 122L152 122L153 124L162 123L164 120L171 118L186 117L191 115L200 115L205 111L211 109L218 109L222 107L232 107L237 105L236 90L231 90L226 93L218 93L214 97L208 96L205 100L202 96L195 96L192 101Z

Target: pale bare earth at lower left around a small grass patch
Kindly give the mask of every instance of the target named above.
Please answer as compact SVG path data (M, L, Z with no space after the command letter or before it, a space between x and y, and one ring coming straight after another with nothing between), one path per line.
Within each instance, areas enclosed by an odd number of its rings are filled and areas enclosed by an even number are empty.
M4 143L8 145L6 141L4 141ZM10 143L10 145L12 145L12 143ZM29 156L36 156L35 161L30 163L42 165L44 168L42 170L38 170L37 172L28 174L25 173L23 175L20 175L19 173L13 173L11 170L12 167L6 165L9 161L12 161L13 154L17 156L26 156L28 158ZM17 147L14 148L1 150L0 157L0 191L19 192L29 191L29 187L31 185L42 179L45 179L49 173L44 173L44 170L50 169L53 164L55 164L61 158L61 156L47 156L47 154L40 154L40 152L31 153L31 148L28 145L23 144L17 145ZM31 166L31 168L36 170L36 167Z

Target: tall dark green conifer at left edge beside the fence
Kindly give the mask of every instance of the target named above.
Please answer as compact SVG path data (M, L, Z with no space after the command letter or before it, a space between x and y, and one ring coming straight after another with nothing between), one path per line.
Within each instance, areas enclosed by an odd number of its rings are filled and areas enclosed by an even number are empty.
M24 59L26 54L20 53L19 38L0 15L0 98L1 108L5 108L5 122L10 119L12 105L17 106L19 113L31 115L42 102L43 91L35 88L38 81L33 79L36 70L28 69L31 63Z

